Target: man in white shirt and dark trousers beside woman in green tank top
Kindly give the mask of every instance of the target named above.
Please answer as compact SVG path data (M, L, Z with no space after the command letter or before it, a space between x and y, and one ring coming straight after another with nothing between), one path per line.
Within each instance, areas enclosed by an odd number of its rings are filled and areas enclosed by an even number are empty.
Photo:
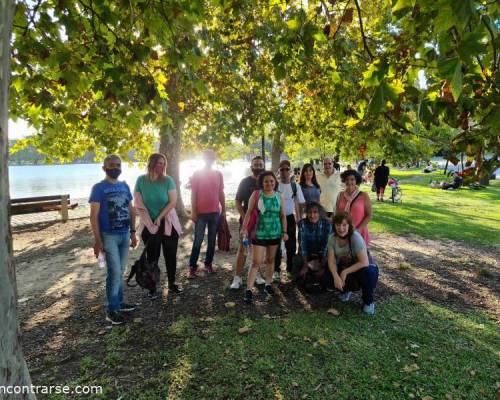
M293 257L297 252L297 236L296 227L297 222L300 220L302 215L302 207L305 205L306 200L302 193L300 185L296 182L291 182L290 172L291 166L290 161L283 160L280 162L279 166L280 172L280 182L278 186L278 191L281 193L285 200L285 214L287 220L287 234L288 240L285 242L286 248L286 270L287 272L292 272L293 267ZM276 254L275 264L274 264L274 280L279 281L280 271L281 271L281 251L278 249L278 254Z

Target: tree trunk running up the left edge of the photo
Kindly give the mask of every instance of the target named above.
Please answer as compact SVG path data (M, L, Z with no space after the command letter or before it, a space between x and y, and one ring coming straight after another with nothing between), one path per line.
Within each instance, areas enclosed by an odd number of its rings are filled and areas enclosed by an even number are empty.
M31 378L21 348L17 321L16 273L10 234L8 120L10 36L14 2L0 0L0 388L30 386ZM35 395L1 394L5 399L35 399Z

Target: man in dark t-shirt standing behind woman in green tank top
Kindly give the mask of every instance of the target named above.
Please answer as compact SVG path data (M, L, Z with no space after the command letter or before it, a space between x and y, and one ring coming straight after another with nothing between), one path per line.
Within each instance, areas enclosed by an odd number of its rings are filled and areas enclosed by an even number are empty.
M261 156L256 156L252 158L251 167L252 175L244 178L239 186L238 191L236 192L236 209L238 210L238 214L240 215L240 231L241 224L243 223L243 219L245 218L245 214L248 210L248 202L250 200L250 196L252 193L259 188L259 176L262 172L264 172L264 159ZM251 243L248 243L248 246L243 245L243 237L240 235L240 244L238 246L238 253L236 255L236 268L234 273L233 282L231 283L231 289L240 289L243 285L243 268L245 266L245 261L247 258L247 252ZM260 272L257 272L257 276L255 278L255 283L257 285L264 285L266 281L260 275Z

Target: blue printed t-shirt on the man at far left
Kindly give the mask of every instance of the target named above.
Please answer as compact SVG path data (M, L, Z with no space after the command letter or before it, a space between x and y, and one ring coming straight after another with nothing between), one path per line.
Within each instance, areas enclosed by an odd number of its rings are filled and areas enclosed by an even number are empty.
M130 188L125 182L111 183L106 180L92 187L89 203L99 203L99 229L106 233L127 233L130 229L128 205L132 200Z

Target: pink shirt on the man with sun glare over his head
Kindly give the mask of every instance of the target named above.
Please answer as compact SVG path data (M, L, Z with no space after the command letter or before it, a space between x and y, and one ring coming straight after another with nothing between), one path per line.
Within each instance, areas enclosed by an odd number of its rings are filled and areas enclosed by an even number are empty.
M198 214L220 212L219 194L224 190L224 178L219 171L196 171L191 178L191 190Z

